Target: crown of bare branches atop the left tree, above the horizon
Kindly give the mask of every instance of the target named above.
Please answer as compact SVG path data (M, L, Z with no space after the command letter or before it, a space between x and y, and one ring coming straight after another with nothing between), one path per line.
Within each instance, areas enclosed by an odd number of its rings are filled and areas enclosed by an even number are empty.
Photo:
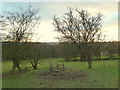
M32 38L35 27L40 24L39 10L29 6L27 9L20 8L19 11L5 12L4 30L7 30L6 40L13 42L28 41Z

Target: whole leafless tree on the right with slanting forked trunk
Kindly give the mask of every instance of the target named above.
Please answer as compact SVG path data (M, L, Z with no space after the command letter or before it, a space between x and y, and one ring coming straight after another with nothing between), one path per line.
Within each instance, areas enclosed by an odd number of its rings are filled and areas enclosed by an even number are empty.
M65 13L62 18L54 16L53 25L55 30L62 34L61 41L73 42L82 52L88 62L88 69L92 68L94 42L99 42L102 37L101 17L91 16L86 10L73 10Z

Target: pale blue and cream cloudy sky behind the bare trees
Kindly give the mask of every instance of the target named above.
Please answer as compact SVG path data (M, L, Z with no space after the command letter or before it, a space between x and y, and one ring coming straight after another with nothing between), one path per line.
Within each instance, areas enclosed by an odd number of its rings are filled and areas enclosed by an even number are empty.
M102 17L102 31L106 34L106 40L118 40L118 3L117 2L2 2L1 11L15 11L20 7L26 8L32 5L33 8L40 9L41 21L36 29L33 41L58 42L56 39L60 34L54 31L53 16L61 17L68 7L73 9L85 9L92 15L99 12Z

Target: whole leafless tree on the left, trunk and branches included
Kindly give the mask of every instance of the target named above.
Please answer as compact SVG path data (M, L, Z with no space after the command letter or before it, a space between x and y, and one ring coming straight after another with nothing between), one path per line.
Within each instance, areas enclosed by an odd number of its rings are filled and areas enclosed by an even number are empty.
M20 70L20 54L24 52L23 42L28 42L32 39L36 26L40 24L39 10L29 6L26 9L20 8L18 11L5 12L1 15L2 24L7 35L4 41L14 43L13 70ZM22 45L22 46L21 46ZM22 49L21 49L22 48Z

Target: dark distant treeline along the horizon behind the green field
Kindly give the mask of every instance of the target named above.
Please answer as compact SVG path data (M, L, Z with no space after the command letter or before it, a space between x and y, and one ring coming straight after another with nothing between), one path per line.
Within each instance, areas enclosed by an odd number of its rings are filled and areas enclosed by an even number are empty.
M114 58L120 49L118 42L95 42L91 52L94 52L95 59L101 59L103 55L107 55L109 59ZM80 59L84 60L82 52L74 43L39 43L39 42L20 42L16 49L16 43L2 43L2 58L3 60L11 60L19 57L20 60L34 59L37 55L39 58L64 58L65 60ZM97 50L96 50L97 49ZM14 55L15 50L18 54ZM78 58L80 57L80 58Z

